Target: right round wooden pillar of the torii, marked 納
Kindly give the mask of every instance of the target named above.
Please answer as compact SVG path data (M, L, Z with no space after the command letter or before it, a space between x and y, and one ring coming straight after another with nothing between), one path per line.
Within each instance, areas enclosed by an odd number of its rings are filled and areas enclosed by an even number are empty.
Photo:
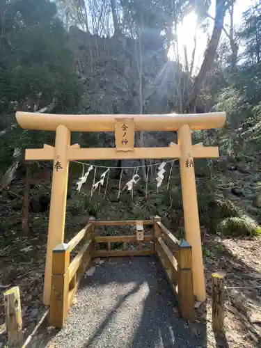
M191 129L189 125L183 125L180 127L178 130L178 141L181 148L180 176L186 239L192 246L193 292L198 301L203 302L206 299L205 276L194 161L192 155Z

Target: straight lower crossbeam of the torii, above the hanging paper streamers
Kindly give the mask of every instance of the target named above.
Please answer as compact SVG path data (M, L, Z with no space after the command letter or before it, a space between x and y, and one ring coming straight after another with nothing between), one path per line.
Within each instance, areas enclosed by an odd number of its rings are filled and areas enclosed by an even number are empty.
M181 157L180 145L169 148L134 148L133 151L119 152L116 148L68 148L68 160L94 160L94 159L179 159ZM217 158L219 148L193 146L193 158ZM27 149L26 160L52 160L54 148L45 146L43 149Z

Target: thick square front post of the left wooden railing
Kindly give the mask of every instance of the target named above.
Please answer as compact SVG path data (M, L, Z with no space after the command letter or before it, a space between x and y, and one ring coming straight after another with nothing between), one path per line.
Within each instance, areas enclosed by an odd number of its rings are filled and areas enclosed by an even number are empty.
M70 248L62 243L52 253L50 324L61 329L68 313Z

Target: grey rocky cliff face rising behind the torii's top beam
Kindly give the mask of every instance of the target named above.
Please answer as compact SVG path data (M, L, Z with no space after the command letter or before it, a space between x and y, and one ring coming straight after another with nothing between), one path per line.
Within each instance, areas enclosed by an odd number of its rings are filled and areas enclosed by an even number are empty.
M181 65L168 61L160 37L144 33L140 50L139 41L125 35L101 38L71 27L68 45L84 84L81 112L140 113L141 103L143 113L178 110L177 81L184 86L185 75ZM173 134L145 136L150 146L170 141Z

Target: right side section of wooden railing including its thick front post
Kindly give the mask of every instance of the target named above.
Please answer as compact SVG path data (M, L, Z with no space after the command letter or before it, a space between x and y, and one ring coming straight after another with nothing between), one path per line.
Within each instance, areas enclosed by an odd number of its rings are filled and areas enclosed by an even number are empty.
M171 283L172 290L177 296L180 313L184 319L195 319L193 276L192 276L192 248L185 240L179 241L161 223L155 219L155 252ZM168 248L170 244L175 253Z

